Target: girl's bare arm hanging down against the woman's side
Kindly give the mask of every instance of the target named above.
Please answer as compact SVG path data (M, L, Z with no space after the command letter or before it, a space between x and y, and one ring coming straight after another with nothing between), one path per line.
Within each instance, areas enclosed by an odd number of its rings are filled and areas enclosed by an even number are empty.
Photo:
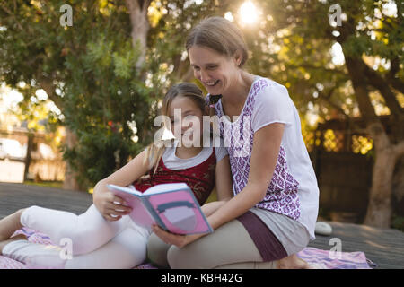
M217 162L215 170L215 186L217 201L204 204L201 209L206 216L215 211L233 197L232 171L230 170L229 156L226 155Z

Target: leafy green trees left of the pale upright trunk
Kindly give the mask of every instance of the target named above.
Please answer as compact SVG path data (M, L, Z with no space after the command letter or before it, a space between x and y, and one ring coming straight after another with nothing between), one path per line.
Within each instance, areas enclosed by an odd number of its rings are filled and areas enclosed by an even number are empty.
M141 81L127 9L108 1L76 1L73 25L61 25L62 1L2 1L0 80L22 91L43 89L62 111L65 159L86 189L142 148L153 98ZM145 112L146 111L146 112ZM136 123L136 129L134 125ZM68 174L66 175L68 182ZM70 186L72 188L72 186Z

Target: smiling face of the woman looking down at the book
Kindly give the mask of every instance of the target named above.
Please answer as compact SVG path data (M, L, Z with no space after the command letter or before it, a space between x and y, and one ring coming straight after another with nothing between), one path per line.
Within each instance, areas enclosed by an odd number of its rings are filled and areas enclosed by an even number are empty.
M226 57L214 49L194 45L189 48L189 62L194 76L213 95L224 94L238 81L241 57Z

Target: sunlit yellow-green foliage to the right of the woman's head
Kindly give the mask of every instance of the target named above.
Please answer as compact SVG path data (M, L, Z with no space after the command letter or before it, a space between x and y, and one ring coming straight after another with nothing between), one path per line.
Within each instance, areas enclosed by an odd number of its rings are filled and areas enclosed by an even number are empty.
M385 13L389 3L397 6L397 16ZM332 4L341 7L341 26L329 23ZM253 56L251 71L285 84L303 114L313 104L323 119L332 114L358 116L354 112L357 103L347 68L332 63L331 48L335 44L341 45L344 57L379 58L384 63L398 61L397 71L391 71L388 65L378 65L375 72L382 77L394 74L402 83L402 2L277 0L259 1L257 5L263 17L259 28L254 26L256 30L248 37Z

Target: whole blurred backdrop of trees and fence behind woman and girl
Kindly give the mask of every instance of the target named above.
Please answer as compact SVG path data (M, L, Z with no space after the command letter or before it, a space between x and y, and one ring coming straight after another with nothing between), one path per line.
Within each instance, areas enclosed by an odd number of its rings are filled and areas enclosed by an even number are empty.
M184 41L218 15L294 100L321 218L404 230L401 1L0 4L0 182L92 192L151 142L168 87L202 88Z

